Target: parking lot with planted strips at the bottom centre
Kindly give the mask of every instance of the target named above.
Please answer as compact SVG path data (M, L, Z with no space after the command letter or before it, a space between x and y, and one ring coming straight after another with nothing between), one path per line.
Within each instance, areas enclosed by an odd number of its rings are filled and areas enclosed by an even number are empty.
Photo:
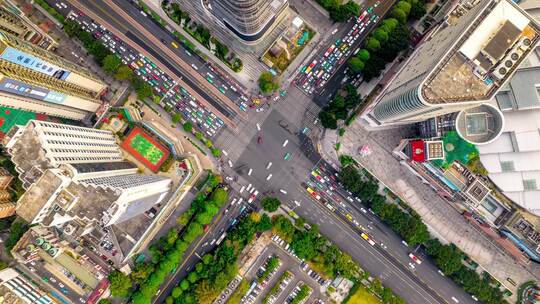
M277 266L271 260L277 260ZM330 284L330 280L311 270L308 264L296 257L289 244L277 236L272 237L272 241L251 265L245 279L251 283L242 299L242 303L246 304L291 303L300 289L308 291L300 303L325 303L323 292Z

